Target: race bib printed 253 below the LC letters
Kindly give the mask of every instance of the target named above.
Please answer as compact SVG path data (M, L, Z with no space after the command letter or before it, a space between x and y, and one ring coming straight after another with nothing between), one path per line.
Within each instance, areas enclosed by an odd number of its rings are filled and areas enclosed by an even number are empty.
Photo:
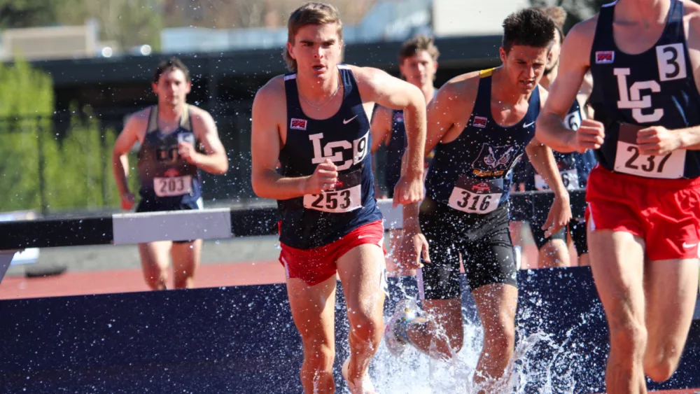
M344 213L362 208L361 170L338 176L335 189L320 195L304 195L304 208L330 213Z

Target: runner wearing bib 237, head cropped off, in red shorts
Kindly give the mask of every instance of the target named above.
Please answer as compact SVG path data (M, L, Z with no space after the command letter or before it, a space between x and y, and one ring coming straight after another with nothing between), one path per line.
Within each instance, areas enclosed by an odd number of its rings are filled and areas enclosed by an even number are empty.
M671 377L692 321L700 210L700 6L619 0L569 31L538 138L596 150L589 176L591 269L610 328L607 392ZM562 119L584 73L596 120Z

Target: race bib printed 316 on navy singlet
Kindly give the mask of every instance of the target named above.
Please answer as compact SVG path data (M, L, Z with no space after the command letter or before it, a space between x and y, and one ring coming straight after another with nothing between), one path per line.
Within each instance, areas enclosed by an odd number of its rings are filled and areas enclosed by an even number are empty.
M462 174L449 196L449 206L458 211L483 215L498 208L502 195L503 178L481 180Z

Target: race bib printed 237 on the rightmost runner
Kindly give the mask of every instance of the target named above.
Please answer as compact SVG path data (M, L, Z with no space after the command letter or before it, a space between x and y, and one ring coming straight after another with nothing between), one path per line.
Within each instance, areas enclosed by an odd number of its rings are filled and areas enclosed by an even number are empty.
M643 128L629 123L619 125L615 171L646 178L682 178L685 149L673 150L663 156L643 155L637 145L637 132Z

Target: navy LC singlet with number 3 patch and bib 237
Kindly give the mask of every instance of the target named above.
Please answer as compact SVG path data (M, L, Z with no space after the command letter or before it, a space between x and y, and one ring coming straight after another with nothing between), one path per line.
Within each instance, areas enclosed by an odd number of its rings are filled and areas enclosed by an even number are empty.
M610 171L645 178L696 178L700 151L675 150L642 155L636 144L641 128L681 129L700 124L700 94L683 27L683 3L671 0L661 37L649 50L628 55L612 35L615 3L601 8L591 50L595 118L605 126L605 142L596 151Z

